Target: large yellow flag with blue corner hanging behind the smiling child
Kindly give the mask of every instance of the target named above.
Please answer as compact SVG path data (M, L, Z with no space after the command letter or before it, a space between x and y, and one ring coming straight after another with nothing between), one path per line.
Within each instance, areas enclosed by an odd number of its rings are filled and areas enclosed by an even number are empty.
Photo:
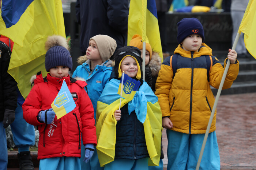
M128 18L128 43L139 34L163 60L155 0L131 0Z

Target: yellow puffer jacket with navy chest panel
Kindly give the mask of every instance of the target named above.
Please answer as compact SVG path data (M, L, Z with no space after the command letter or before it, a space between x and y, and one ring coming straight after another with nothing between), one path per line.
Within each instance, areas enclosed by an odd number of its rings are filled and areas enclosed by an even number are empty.
M162 117L169 116L173 123L171 130L187 134L206 133L214 105L214 95L210 85L219 88L227 59L223 69L219 60L212 56L211 48L205 43L202 43L198 52L185 51L179 45L174 54L179 54L176 75L173 78L170 57L168 57L162 63L156 83L155 95L158 96ZM212 58L210 82L207 80L206 57ZM236 64L230 64L222 89L231 87L238 71L238 61ZM210 132L216 129L215 123L216 111Z

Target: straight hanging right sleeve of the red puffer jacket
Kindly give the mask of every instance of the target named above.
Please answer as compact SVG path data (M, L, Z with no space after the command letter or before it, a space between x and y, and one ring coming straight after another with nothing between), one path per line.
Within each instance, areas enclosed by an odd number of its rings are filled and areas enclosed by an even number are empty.
M97 145L93 104L84 88L81 89L78 105L82 120L83 145L87 143Z

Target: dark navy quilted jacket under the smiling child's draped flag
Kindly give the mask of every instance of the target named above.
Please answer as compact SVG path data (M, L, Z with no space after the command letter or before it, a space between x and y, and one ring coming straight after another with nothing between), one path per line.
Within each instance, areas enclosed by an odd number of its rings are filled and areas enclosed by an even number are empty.
M116 124L115 159L141 159L149 157L141 123L135 111L128 113L128 104L121 108L121 119Z

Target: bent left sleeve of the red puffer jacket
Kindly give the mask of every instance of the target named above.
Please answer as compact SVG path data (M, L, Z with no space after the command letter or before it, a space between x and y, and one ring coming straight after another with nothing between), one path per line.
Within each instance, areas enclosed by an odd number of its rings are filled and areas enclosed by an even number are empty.
M44 124L44 122L39 122L37 119L39 111L42 110L41 101L42 99L39 87L37 84L35 84L22 105L23 118L26 120L27 123L32 124L33 126Z

